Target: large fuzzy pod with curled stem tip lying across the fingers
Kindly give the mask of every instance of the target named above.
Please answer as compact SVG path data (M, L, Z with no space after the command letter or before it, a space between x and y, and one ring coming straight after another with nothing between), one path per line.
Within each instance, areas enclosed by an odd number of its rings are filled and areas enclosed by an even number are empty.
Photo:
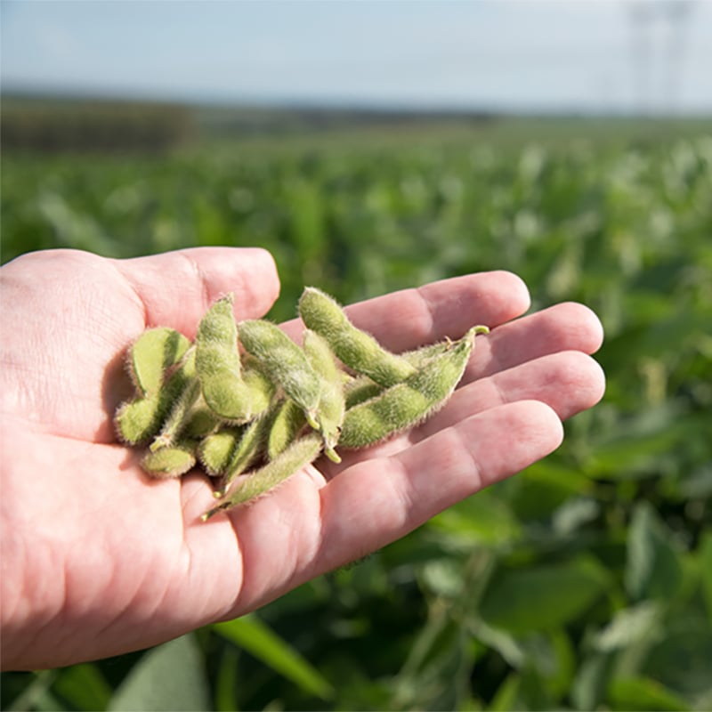
M431 416L449 399L465 373L475 334L486 331L484 327L470 329L448 351L427 360L401 384L347 410L339 444L363 448Z

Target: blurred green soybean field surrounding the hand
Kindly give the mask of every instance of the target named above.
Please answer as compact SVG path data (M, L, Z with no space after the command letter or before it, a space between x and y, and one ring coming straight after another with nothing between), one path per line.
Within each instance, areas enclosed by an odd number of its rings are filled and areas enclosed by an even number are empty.
M151 651L4 674L2 707L712 707L712 122L235 140L213 119L159 153L4 151L3 262L266 247L275 320L305 284L351 303L511 270L532 309L599 314L605 398L552 456L365 561Z

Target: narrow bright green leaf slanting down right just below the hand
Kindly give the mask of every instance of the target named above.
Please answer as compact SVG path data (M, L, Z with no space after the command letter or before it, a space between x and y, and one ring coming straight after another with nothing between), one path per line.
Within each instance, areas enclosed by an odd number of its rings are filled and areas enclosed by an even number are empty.
M216 623L212 630L262 660L304 692L322 700L333 697L334 688L319 670L254 614Z

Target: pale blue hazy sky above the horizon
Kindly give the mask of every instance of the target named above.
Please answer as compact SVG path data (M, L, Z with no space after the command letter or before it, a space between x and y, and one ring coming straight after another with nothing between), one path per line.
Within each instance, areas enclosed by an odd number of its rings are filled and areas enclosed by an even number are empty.
M0 0L0 13L6 92L712 114L712 0Z

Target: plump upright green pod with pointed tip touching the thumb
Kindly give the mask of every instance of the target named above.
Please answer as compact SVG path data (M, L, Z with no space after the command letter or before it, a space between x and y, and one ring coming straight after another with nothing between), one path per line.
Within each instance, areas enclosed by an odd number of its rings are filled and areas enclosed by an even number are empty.
M232 301L233 295L223 296L200 320L195 339L196 369L209 408L226 420L240 422L251 417L252 409L241 376Z

